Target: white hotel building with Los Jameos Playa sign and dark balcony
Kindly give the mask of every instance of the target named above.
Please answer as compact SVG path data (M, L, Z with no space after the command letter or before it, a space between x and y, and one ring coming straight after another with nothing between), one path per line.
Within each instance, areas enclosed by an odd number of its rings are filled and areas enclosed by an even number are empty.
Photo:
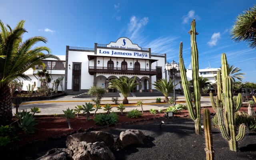
M84 93L92 85L107 88L108 80L119 76L136 76L143 92L148 92L154 81L166 78L165 64L166 54L151 53L151 48L140 48L124 37L110 44L95 43L94 48L66 46L65 93ZM139 85L132 92L138 90Z

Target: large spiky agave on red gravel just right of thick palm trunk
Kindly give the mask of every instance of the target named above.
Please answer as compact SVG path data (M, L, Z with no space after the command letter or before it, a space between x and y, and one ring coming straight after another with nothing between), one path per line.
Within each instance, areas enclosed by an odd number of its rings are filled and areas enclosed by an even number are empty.
M34 128L34 125L37 124L37 121L33 117L33 114L30 112L27 112L23 110L22 112L19 112L18 114L15 114L16 118L18 118L18 126L22 130L24 130L24 133L34 133L34 130L38 130Z

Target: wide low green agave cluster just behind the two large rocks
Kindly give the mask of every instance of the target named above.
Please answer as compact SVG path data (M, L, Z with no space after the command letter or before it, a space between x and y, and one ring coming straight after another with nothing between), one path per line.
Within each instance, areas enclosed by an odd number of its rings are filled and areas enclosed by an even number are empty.
M114 112L111 112L110 114L96 114L95 118L93 119L95 124L105 126L108 124L117 124L118 115Z

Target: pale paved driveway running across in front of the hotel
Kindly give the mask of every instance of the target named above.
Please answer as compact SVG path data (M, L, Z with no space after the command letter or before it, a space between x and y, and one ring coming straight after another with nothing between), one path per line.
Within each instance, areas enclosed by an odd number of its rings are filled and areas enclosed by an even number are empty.
M67 108L74 109L77 105L85 105L85 102L92 102L90 98L72 98L73 96L62 96L59 98L54 98L52 100L42 100L42 101L31 101L31 102L23 102L20 104L19 110L28 110L30 108L38 107L40 108L40 113L36 113L36 115L52 115L53 114L63 114L62 110L66 110ZM159 96L158 96L159 97ZM141 107L137 107L136 103L138 100L142 100L144 102L143 110L149 111L151 108L158 109L166 109L168 108L168 104L166 103L156 103L156 98L158 97L128 97L129 104L125 105L124 112L129 112L133 109L138 109L141 111ZM160 97L162 101L164 100L164 96ZM122 103L123 98L119 98L119 103ZM102 98L101 104L113 104L111 98ZM178 96L178 100L176 103L186 104L186 100L184 96ZM94 104L94 103L93 103ZM116 106L112 105L112 111L120 112L117 110ZM210 98L209 97L201 97L201 107L211 106ZM103 107L102 107L103 108ZM92 111L94 112L94 111ZM98 110L97 113L105 113L103 109ZM16 108L12 106L12 113L16 113Z

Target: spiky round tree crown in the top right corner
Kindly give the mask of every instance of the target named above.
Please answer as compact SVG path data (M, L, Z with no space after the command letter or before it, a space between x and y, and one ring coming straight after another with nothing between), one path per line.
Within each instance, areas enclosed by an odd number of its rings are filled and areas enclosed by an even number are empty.
M236 22L230 31L235 42L246 41L249 47L256 47L256 6L244 11L236 17Z

